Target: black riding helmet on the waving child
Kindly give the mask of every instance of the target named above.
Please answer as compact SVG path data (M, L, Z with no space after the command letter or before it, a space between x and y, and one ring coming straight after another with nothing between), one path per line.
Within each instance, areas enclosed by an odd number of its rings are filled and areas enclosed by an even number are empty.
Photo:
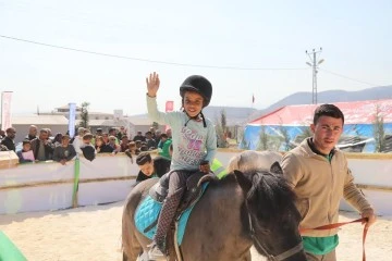
M187 77L180 87L180 96L184 99L185 91L195 91L203 96L203 108L207 107L212 97L211 83L201 75L192 75Z

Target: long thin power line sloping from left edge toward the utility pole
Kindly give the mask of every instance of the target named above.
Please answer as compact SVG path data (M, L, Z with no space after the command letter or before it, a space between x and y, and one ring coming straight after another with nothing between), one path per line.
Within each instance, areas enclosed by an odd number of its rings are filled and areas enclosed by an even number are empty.
M295 71L295 70L307 70L306 67L303 69L277 69L277 67L236 67L236 66L218 66L218 65L204 65L204 64L191 64L191 63L177 63L177 62L167 62L167 61L157 61L157 60L149 60L149 59L143 59L143 58L133 58L133 57L124 57L124 55L118 55L118 54L110 54L110 53L103 53L103 52L96 52L96 51L88 51L88 50L82 50L76 48L70 48L70 47L63 47L63 46L56 46L39 41L33 41L33 40L26 40L10 36L0 35L1 38L5 38L9 40L15 40L15 41L23 41L27 44L34 44L45 47L51 47L57 49L63 49L68 51L75 51L75 52L83 52L88 54L95 54L100 57L110 57L110 58L117 58L117 59L125 59L125 60L132 60L132 61L138 61L138 62L149 62L149 63L159 63L159 64L167 64L167 65L174 65L174 66L187 66L187 67L205 67L205 69L220 69L220 70L237 70L237 71Z

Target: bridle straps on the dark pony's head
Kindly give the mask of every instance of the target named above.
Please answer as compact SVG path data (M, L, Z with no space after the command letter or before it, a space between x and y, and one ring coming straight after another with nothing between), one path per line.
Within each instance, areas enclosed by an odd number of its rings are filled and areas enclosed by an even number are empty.
M278 254L278 256L270 254L268 252L267 248L265 246L262 246L261 241L256 237L256 232L255 232L255 227L253 226L252 215L250 215L249 207L248 207L248 202L247 202L254 192L255 192L255 187L250 188L250 190L248 191L246 199L245 199L245 207L246 207L246 211L247 211L247 215L248 215L248 220L249 220L249 231L250 231L250 236L252 236L253 241L256 243L256 245L260 249L262 249L262 251L267 254L267 260L282 261L282 260L285 260L286 258L290 258L291 256L302 251L304 249L302 240L295 247Z

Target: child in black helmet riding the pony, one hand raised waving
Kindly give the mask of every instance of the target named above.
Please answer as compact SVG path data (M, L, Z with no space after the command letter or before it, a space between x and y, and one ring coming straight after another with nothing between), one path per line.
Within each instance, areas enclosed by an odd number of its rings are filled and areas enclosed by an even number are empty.
M173 112L158 110L159 75L150 74L146 84L149 119L171 127L173 144L169 192L158 217L152 244L148 246L149 259L156 260L166 257L166 236L186 190L187 178L197 172L210 173L210 163L217 152L217 133L213 123L201 112L212 97L212 85L207 78L200 75L187 77L180 86L182 110Z

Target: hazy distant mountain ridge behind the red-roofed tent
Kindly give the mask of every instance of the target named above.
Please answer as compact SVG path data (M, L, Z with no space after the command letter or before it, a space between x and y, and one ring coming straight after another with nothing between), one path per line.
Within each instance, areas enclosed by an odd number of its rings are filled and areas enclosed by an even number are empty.
M346 91L346 90L326 90L317 94L318 103L333 103L342 101L360 101L360 100L380 100L392 99L392 85L371 87L363 90ZM270 107L258 110L253 113L249 119L256 120L261 115L270 113L279 108L285 105L309 104L311 103L311 92L302 91L290 95Z

